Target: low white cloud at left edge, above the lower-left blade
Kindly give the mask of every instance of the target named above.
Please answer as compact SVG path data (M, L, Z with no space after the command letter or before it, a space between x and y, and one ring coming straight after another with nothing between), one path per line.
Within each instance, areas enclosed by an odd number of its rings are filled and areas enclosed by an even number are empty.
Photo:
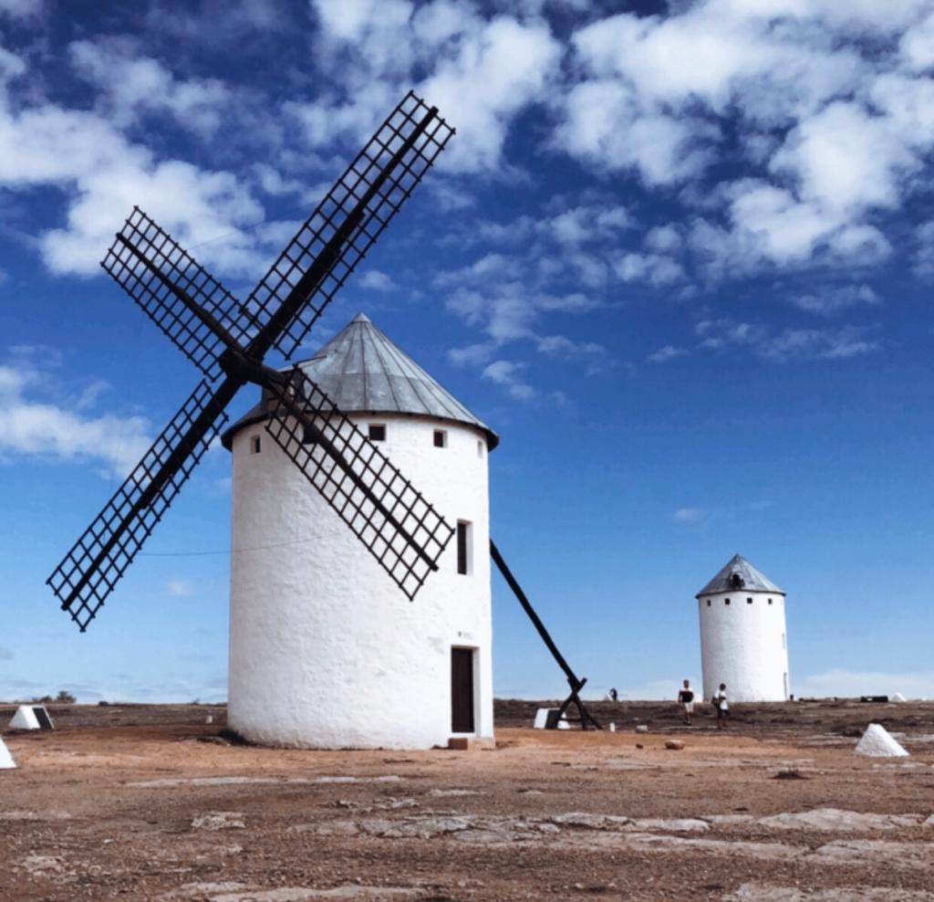
M106 476L126 476L148 451L149 421L143 417L92 415L79 405L45 400L53 391L51 374L35 355L12 355L0 365L0 459L20 455L92 461Z

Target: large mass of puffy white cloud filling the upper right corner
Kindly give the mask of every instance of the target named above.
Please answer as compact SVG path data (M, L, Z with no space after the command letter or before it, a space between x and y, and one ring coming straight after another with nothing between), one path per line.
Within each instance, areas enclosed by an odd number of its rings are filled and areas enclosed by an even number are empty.
M691 229L708 276L878 265L884 217L934 149L932 34L926 0L698 0L590 21L572 36L554 146L649 186L690 183L682 200L721 214ZM714 161L740 165L732 190L696 184ZM674 250L658 240L646 251Z

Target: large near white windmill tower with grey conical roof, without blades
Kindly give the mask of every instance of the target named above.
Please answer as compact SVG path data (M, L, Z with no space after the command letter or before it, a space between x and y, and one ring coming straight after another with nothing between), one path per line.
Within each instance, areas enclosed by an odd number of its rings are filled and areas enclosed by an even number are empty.
M492 737L488 451L498 438L362 314L301 365L457 528L410 602L263 429L229 429L228 723L298 748Z

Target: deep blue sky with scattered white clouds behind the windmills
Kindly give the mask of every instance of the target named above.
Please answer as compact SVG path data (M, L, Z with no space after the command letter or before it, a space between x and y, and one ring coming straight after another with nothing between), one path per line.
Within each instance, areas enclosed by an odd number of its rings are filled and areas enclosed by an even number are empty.
M0 0L0 697L225 696L225 451L87 634L44 585L197 381L98 261L138 204L246 293L410 87L458 135L305 350L365 310L502 435L578 672L699 678L740 551L795 692L934 696L932 72L932 0Z

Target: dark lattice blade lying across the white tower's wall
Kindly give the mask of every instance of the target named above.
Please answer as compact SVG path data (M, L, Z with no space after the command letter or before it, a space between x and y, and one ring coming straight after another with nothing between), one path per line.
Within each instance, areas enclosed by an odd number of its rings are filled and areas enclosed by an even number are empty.
M412 599L454 535L375 444L294 367L266 431Z

